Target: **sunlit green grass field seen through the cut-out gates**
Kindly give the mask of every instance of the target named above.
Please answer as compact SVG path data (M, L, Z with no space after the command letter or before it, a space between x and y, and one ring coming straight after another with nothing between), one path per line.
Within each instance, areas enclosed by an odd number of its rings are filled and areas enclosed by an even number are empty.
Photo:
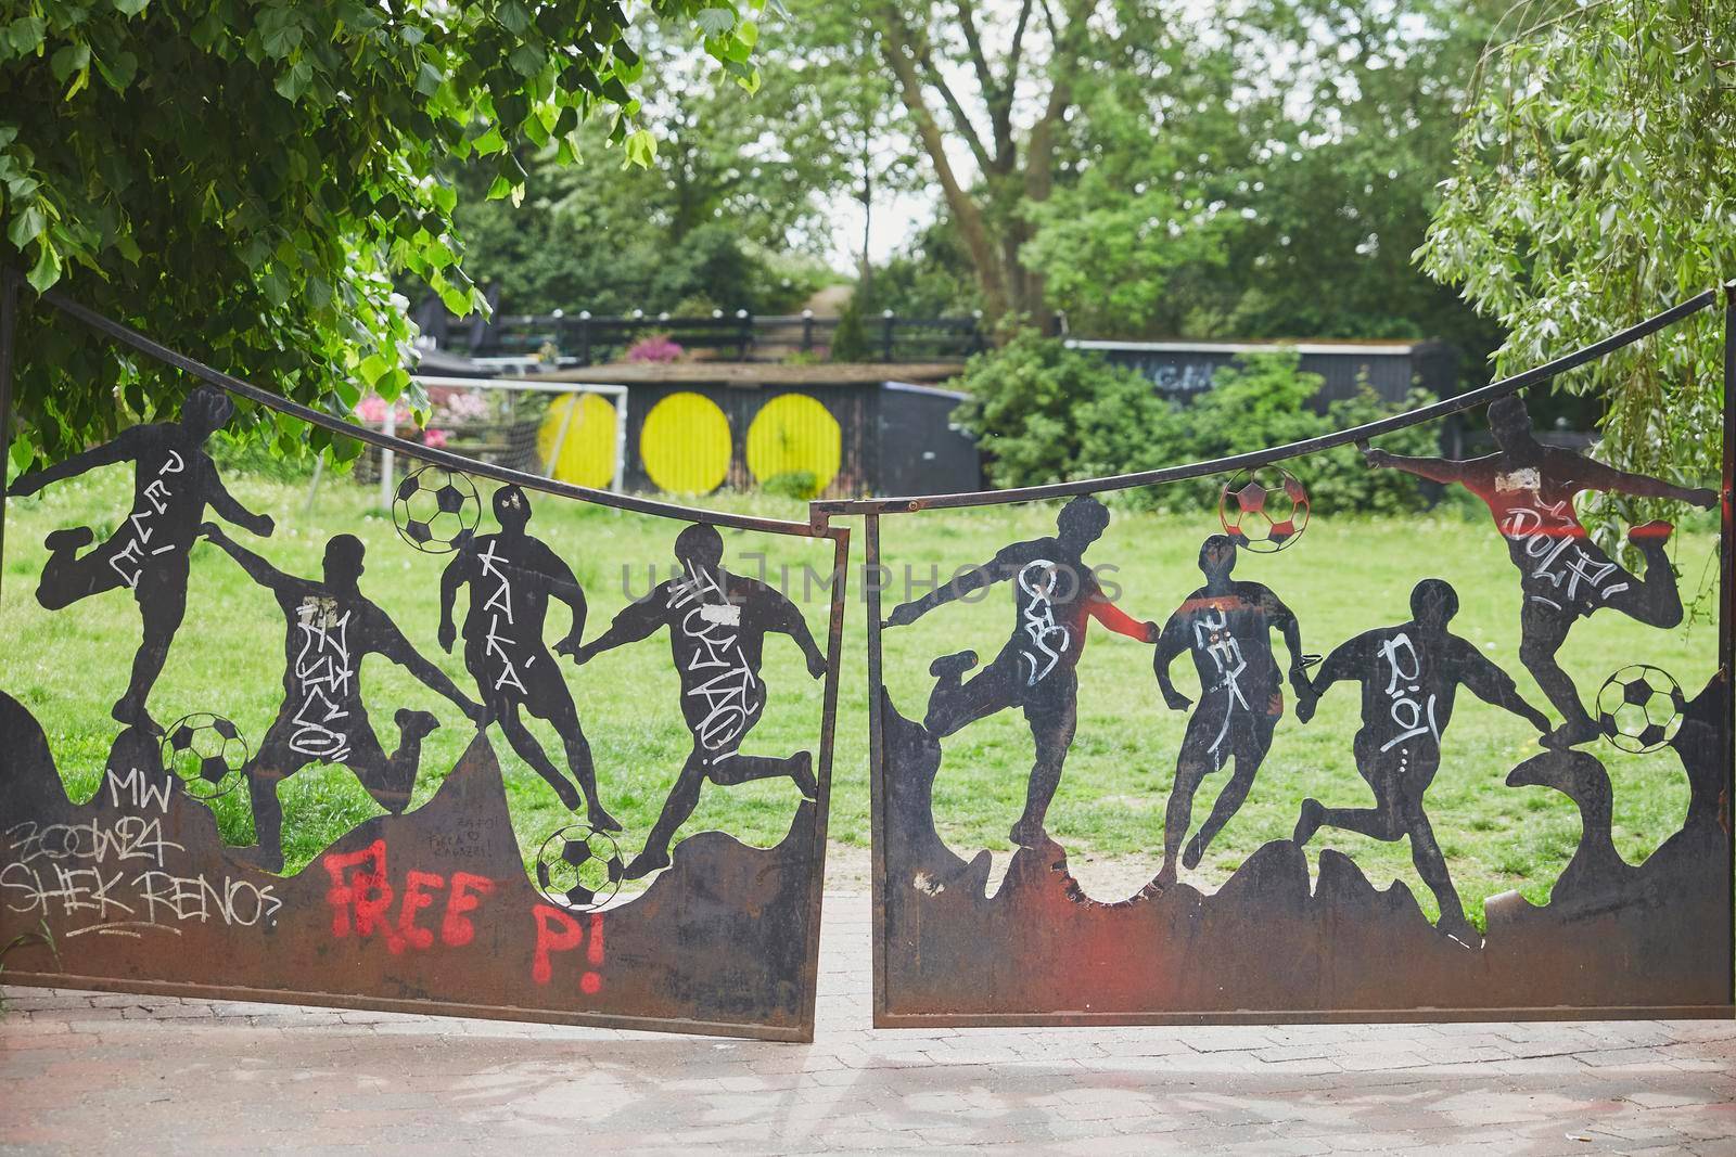
M248 507L278 520L271 539L250 539L241 531L233 531L234 538L293 574L318 574L328 536L358 534L368 548L363 592L462 689L470 689L462 659L443 654L434 642L444 559L404 546L389 517L375 508L372 489L347 479L326 480L311 510L306 508L306 486L240 475L231 477L231 489ZM76 798L95 789L118 729L109 720L109 708L127 680L139 616L123 592L54 614L42 611L33 598L47 557L42 538L66 526L106 531L127 512L128 501L127 470L108 468L89 479L52 486L38 498L14 500L7 508L0 612L9 645L0 650L0 687L42 720ZM731 496L710 501L720 508L806 519L795 501ZM1335 517L1330 505L1318 501L1314 515L1314 524L1293 548L1278 555L1243 555L1236 571L1238 578L1267 583L1290 604L1309 652L1325 654L1361 630L1406 619L1411 585L1424 576L1439 576L1458 588L1462 611L1455 631L1484 647L1517 678L1521 692L1547 709L1517 663L1517 576L1481 512L1477 517L1450 512L1377 522ZM490 526L491 520L484 520L484 529ZM1009 541L1047 534L1052 527L1050 507L889 517L882 522L894 586L885 595L887 607L904 598L901 578L906 565L918 581L930 574L930 567L946 576L962 564L988 560ZM597 635L630 600L628 592L642 595L653 581L668 574L674 562L670 545L679 529L679 524L547 496L535 501L531 522L531 533L561 552L585 586L590 600L587 638ZM1201 538L1212 529L1212 512L1201 517L1118 513L1087 560L1115 564L1113 579L1123 590L1121 607L1139 619L1161 621L1200 585L1194 559ZM1677 538L1674 552L1684 597L1701 590L1708 574L1712 531L1712 522L1696 515ZM859 541L852 550L859 565ZM790 593L825 645L826 593L814 588L804 600L800 574L804 565L823 574L830 565L830 545L726 533L726 567L755 576L760 565L750 557L755 553L766 557L773 581L788 567ZM656 579L648 578L653 565ZM849 595L832 836L866 845L870 814L859 572L851 574ZM550 642L566 626L564 611L554 607ZM979 602L953 604L913 626L889 631L885 678L894 703L904 715L920 718L932 683L929 661L962 647L974 647L986 661L1005 642L1010 626L1009 597L1000 588ZM283 696L281 638L283 619L276 604L217 548L200 543L193 553L187 618L153 694L151 715L167 723L186 713L215 711L257 739ZM1658 631L1606 612L1575 630L1562 661L1587 697L1595 694L1606 675L1634 661L1672 671L1693 694L1715 668L1715 642L1717 631L1705 621ZM656 635L601 656L585 668L564 670L595 751L604 803L627 826L623 850L632 853L642 845L687 751L667 640ZM1184 694L1198 696L1186 657L1177 661L1174 671ZM812 749L819 734L821 685L807 677L800 652L788 640L773 637L762 673L769 703L745 749L764 755ZM424 748L415 803L425 801L474 730L450 704L384 659L368 661L363 687L387 748L396 742L391 715L398 706L425 708L444 722ZM1191 876L1194 883L1213 886L1260 843L1286 838L1304 796L1347 807L1371 801L1351 760L1356 711L1358 690L1342 685L1323 699L1312 723L1304 727L1286 715L1246 805ZM1168 711L1158 696L1151 649L1099 631L1080 664L1078 735L1049 814L1050 834L1075 855L1137 857L1156 873L1163 805L1184 723L1186 715ZM533 723L533 730L559 765L559 744L550 729ZM498 730L491 735L505 768L521 848L528 857L535 855L542 840L568 822L568 812L554 791L512 755ZM1474 919L1481 919L1484 897L1509 888L1521 888L1535 900L1545 899L1578 840L1578 814L1564 796L1503 784L1514 763L1533 751L1529 727L1469 692L1460 694L1458 713L1446 734L1443 767L1427 803ZM1687 798L1680 767L1668 751L1632 756L1608 744L1599 744L1595 751L1609 767L1616 788L1616 847L1630 860L1642 859L1680 826ZM1002 852L1010 847L1007 829L1024 803L1029 760L1029 732L1016 711L974 723L946 741L936 782L936 819L955 850L969 857L977 848ZM1224 774L1212 775L1200 789L1196 824L1205 819L1224 779ZM309 767L281 788L281 800L290 871L306 866L354 824L378 814L342 767ZM722 829L750 843L769 845L788 829L797 800L788 781L707 786L684 834ZM215 810L226 838L250 841L245 791L220 798ZM1316 853L1321 847L1354 855L1377 885L1404 879L1432 911L1432 899L1410 866L1408 843L1384 845L1326 829L1309 850Z

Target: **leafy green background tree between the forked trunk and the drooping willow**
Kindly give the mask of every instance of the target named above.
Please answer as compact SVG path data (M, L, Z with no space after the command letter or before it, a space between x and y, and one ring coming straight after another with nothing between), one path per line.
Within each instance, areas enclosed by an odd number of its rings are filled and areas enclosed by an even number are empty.
M1026 260L1073 328L1127 337L1498 342L1411 264L1451 167L1486 0L1226 0L1217 45L1080 83L1082 172ZM1222 43L1217 43L1217 42Z

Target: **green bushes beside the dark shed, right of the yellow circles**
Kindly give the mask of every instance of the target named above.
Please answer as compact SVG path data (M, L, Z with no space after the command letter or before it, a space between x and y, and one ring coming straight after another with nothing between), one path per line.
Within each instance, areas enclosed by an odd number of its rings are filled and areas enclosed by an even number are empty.
M1040 486L1062 479L1156 470L1241 454L1373 422L1427 401L1417 390L1394 408L1364 389L1309 408L1323 378L1302 373L1290 350L1255 354L1219 369L1213 389L1191 402L1167 401L1132 369L1024 333L1003 349L974 357L963 387L972 397L962 422L990 454L995 486ZM1380 439L1399 454L1437 453L1434 425ZM1354 446L1286 463L1314 496L1318 510L1396 513L1427 505L1417 479L1370 470ZM1187 479L1128 491L1134 507L1198 510L1215 505L1222 477Z

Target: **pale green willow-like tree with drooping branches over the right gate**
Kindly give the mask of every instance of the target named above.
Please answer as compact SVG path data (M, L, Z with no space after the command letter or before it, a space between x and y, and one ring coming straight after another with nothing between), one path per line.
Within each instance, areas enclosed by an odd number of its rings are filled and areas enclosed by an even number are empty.
M1502 35L1420 258L1507 326L1510 373L1736 276L1736 7L1522 3ZM1700 484L1720 340L1713 310L1557 383L1608 402L1599 456Z

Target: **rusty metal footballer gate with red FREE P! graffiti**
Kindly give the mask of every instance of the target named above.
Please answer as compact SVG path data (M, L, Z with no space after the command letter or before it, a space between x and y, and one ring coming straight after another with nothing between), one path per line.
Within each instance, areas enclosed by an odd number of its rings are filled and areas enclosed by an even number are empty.
M191 389L10 487L7 984L812 1037L847 531L484 467L35 309ZM238 404L392 449L392 508L274 520L210 453Z

